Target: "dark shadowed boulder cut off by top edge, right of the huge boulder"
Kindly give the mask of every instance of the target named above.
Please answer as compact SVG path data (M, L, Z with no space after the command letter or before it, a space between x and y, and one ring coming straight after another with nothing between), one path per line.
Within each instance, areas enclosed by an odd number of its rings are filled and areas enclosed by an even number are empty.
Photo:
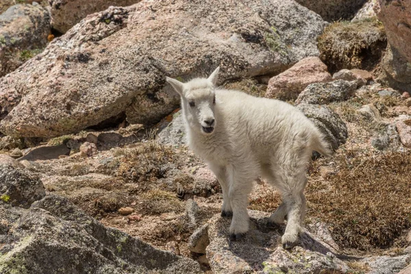
M296 0L301 5L318 13L325 21L349 20L362 7L366 0Z

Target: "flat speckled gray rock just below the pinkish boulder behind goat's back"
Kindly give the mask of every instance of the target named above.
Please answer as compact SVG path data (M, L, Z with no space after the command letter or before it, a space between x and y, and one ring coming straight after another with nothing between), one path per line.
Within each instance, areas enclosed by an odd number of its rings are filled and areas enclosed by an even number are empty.
M310 84L299 94L295 104L311 103L323 105L331 102L345 101L355 94L356 88L356 82L344 80Z

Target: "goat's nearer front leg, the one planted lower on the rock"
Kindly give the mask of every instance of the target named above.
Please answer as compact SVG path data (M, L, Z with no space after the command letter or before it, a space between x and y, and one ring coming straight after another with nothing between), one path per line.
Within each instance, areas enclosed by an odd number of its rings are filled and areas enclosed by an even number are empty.
M242 169L234 169L232 166L227 166L228 197L233 210L232 223L229 227L230 240L243 238L249 230L247 206L254 176L242 171Z

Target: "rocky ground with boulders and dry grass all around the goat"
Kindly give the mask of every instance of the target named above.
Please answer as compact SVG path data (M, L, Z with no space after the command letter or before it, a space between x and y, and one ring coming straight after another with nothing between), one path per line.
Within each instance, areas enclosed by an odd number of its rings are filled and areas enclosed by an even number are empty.
M0 5L0 273L410 273L405 1L16 2ZM335 150L308 167L290 251L262 179L230 242L219 182L185 145L164 77L217 65Z

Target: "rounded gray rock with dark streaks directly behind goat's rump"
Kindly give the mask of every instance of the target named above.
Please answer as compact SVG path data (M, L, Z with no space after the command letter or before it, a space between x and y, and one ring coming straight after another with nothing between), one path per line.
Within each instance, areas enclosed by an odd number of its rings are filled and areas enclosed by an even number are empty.
M341 144L347 141L347 125L340 119L338 114L330 110L327 106L301 103L297 105L297 108L319 127L333 149L337 149Z

